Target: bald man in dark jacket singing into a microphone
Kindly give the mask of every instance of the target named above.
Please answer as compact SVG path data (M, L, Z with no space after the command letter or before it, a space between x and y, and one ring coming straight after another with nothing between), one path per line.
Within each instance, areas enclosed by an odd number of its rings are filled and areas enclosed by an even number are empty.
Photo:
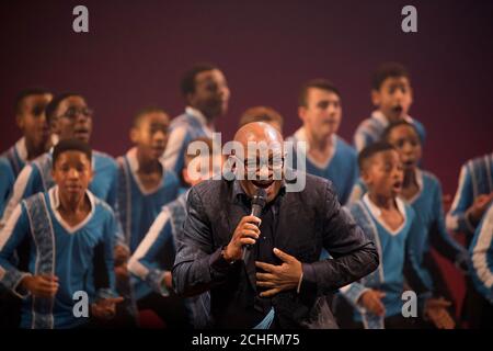
M298 173L305 188L290 191L293 177L274 177L284 161L276 157L284 149L274 127L246 124L234 141L248 150L245 157L237 154L237 170L244 162L248 177L225 174L191 190L174 288L182 295L210 291L216 328L336 327L325 295L377 268L374 244L342 210L330 181ZM253 170L251 160L261 152L250 155L252 143L268 146L268 161ZM266 204L256 217L250 214L259 189ZM332 259L319 261L322 248Z

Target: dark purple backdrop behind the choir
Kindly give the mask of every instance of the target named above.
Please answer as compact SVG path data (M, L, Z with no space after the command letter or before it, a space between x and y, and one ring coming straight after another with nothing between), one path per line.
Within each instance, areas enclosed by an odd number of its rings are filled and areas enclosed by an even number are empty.
M90 33L72 32L85 4ZM400 30L414 4L419 33ZM408 65L411 114L428 133L424 163L454 193L460 165L492 150L492 1L2 1L0 4L0 149L19 136L12 102L25 87L78 91L95 110L93 146L117 156L129 147L136 110L183 110L181 73L217 63L232 92L218 121L231 137L246 107L267 104L300 122L296 97L325 77L343 94L340 134L353 140L371 111L369 75L383 60Z

